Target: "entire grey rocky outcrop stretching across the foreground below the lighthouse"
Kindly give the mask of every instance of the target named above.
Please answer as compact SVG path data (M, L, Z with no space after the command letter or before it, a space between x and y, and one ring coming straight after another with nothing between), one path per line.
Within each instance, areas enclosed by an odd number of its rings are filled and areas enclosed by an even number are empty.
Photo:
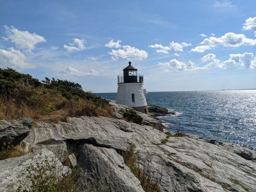
M156 118L170 115L166 109L150 107L139 113L144 125L123 120L128 108L110 102L112 117L69 118L59 124L28 119L0 121L0 143L21 142L20 157L0 161L0 191L17 188L19 172L38 154L57 159L67 157L82 169L83 192L144 192L140 181L123 160L122 152L136 148L136 166L144 170L163 192L256 192L256 153L234 144L215 144L197 135L166 134Z

